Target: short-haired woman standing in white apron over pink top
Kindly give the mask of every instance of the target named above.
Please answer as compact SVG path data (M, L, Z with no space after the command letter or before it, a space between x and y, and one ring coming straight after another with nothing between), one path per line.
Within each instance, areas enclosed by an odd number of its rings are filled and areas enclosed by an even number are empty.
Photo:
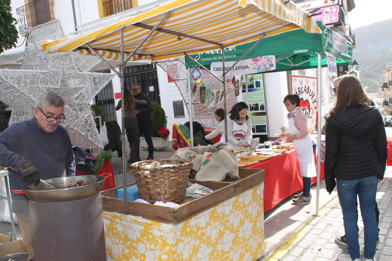
M316 166L314 164L312 139L309 135L307 119L299 108L299 96L297 94L287 95L283 99L289 119L290 135L286 142L293 142L294 149L299 162L299 173L303 179L303 192L295 195L293 202L296 204L310 203L310 186L312 177L317 176Z

